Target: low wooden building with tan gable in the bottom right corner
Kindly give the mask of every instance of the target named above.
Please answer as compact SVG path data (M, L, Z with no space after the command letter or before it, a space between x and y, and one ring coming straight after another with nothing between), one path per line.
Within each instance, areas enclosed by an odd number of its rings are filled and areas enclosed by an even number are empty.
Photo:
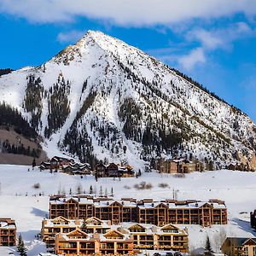
M255 256L256 238L227 237L221 250L227 256Z

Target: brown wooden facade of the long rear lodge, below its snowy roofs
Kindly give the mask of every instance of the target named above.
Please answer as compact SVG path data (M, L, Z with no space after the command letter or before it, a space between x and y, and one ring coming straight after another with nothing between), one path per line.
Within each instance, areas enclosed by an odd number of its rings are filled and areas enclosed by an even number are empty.
M84 219L90 217L110 220L112 224L121 222L137 222L142 224L201 224L209 226L212 224L227 224L227 209L214 208L211 204L203 207L169 207L160 204L158 207L124 207L119 203L109 206L95 206L94 204L83 204L76 201L49 204L49 218L63 216L70 219Z

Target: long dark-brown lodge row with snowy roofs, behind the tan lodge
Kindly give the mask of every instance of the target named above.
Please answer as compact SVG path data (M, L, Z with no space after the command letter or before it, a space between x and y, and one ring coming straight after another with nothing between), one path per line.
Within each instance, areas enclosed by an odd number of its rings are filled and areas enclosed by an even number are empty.
M111 224L134 222L139 224L227 224L227 208L224 201L207 202L187 201L153 201L123 198L93 198L79 196L66 198L52 196L49 201L49 218L63 216L70 219L96 217L110 220Z

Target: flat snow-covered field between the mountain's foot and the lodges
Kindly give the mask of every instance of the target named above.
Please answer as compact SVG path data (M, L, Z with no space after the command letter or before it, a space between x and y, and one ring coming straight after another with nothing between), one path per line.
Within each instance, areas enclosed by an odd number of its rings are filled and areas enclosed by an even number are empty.
M28 172L30 168L30 172ZM152 189L137 190L134 185L146 182L152 184ZM40 184L34 189L35 183ZM159 187L167 183L166 189ZM217 250L220 234L224 236L254 236L249 224L249 213L256 208L256 173L254 172L194 172L186 177L174 177L169 174L156 172L143 173L142 177L127 177L119 179L68 176L63 173L40 172L37 168L32 171L29 166L0 165L0 218L14 218L18 233L26 241L28 256L44 252L44 243L35 237L41 228L42 218L49 210L49 195L59 191L69 194L70 189L76 193L78 187L89 193L90 185L99 194L102 186L103 194L106 189L116 198L137 197L166 199L172 198L173 190L177 199L197 199L207 201L218 198L224 200L228 207L229 224L215 225L211 228L201 228L198 225L189 226L189 247L191 249L204 247L206 236L210 236L212 247ZM41 193L44 196L39 196ZM243 213L241 213L243 212ZM4 249L5 250L5 249ZM0 255L5 255L3 248Z

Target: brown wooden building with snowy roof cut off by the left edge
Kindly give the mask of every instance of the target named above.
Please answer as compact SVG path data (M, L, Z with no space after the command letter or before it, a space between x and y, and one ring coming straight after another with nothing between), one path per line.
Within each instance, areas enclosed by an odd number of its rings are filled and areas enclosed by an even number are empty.
M16 245L16 224L11 218L0 218L0 246L14 247Z

